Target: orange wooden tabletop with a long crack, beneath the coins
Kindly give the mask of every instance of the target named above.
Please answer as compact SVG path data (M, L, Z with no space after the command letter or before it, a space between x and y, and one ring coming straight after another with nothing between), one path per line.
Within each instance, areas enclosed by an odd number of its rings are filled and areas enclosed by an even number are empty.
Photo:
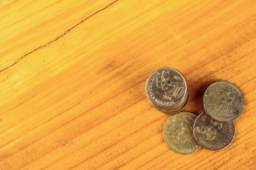
M256 169L256 1L1 0L0 169ZM176 154L146 79L173 67L186 111L245 96L226 149Z

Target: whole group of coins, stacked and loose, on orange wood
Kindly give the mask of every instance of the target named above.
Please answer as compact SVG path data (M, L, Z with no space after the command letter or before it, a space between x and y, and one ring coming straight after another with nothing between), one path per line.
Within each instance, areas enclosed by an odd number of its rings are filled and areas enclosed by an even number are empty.
M146 96L154 108L174 114L164 126L168 147L180 154L190 154L202 147L220 150L235 136L233 121L244 108L245 99L237 86L228 81L211 84L203 95L200 115L181 112L188 104L186 79L176 69L157 69L146 81Z

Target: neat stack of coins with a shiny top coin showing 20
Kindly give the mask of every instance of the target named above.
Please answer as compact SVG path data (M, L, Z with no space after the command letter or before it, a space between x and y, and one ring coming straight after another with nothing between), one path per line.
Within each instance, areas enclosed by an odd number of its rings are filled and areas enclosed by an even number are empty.
M188 84L176 69L157 69L146 81L146 97L157 110L175 114L183 111L188 105Z

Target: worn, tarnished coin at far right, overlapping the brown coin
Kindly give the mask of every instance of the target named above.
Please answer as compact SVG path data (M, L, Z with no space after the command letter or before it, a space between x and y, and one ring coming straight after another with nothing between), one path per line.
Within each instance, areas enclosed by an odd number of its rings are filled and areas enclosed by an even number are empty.
M203 95L203 107L218 122L230 122L243 111L245 99L237 86L228 81L218 81L208 86Z

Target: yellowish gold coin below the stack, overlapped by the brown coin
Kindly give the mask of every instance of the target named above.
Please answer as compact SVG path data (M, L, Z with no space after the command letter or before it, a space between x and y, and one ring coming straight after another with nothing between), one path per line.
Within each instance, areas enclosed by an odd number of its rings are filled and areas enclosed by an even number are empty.
M193 123L197 115L181 112L172 115L164 126L164 140L179 154L191 154L201 148L193 136Z

